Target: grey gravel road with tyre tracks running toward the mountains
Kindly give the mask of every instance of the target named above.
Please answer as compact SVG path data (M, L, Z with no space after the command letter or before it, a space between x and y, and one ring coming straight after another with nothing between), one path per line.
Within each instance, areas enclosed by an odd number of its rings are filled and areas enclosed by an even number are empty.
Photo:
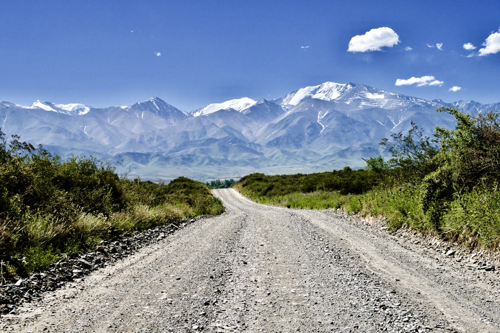
M500 332L497 271L334 210L214 194L224 214L24 304L0 331Z

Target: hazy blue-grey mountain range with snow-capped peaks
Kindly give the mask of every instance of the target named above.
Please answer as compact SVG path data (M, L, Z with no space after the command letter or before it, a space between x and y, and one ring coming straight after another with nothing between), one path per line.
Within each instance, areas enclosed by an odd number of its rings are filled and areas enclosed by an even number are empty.
M18 134L63 157L121 162L118 171L129 169L129 177L236 178L363 167L362 158L383 154L381 138L408 130L410 121L428 135L435 125L453 127L451 116L435 112L441 105L471 113L500 108L325 82L274 100L244 97L191 112L157 97L107 108L0 102L0 126L7 137Z

